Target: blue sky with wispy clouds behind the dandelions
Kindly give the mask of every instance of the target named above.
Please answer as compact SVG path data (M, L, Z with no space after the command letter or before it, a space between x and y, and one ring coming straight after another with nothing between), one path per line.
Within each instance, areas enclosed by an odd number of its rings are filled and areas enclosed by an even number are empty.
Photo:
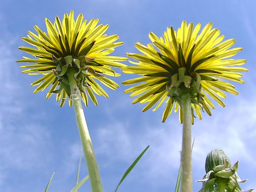
M246 59L245 84L235 83L238 96L227 94L225 108L215 103L212 116L203 114L196 119L193 137L193 181L204 176L204 161L212 149L223 149L232 164L239 160L241 179L249 179L241 187L256 185L256 101L255 48L256 12L254 0L247 1L14 1L2 2L0 7L0 191L44 191L53 171L55 176L49 192L70 191L75 185L80 154L80 139L74 109L52 97L46 91L33 94L29 84L36 76L21 74L15 61L24 53L18 46L27 46L21 37L38 25L45 31L44 18L54 20L58 15L74 10L85 19L99 18L109 24L108 35L117 34L124 45L114 55L138 52L134 44L147 44L149 32L162 36L166 27L180 27L181 21L209 21L219 28L225 39L235 38L234 47L243 47L234 58ZM129 65L129 62L125 62ZM119 69L117 69L119 71ZM85 116L100 166L106 192L114 191L125 170L149 144L150 148L128 175L119 191L173 191L179 169L181 131L178 115L172 114L161 123L164 107L141 112L140 104L123 91L129 86L121 82L132 78L122 74L114 80L120 84L116 91L106 88L109 98L98 97L99 106L92 102ZM85 176L85 161L81 177ZM201 183L193 183L194 191ZM89 182L80 191L90 191Z

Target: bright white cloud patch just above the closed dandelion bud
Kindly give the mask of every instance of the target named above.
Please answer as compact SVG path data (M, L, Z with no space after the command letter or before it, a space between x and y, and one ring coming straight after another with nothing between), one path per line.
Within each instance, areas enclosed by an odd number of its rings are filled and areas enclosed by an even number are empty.
M213 116L212 122L203 122L196 129L195 160L200 159L200 152L215 148L222 148L230 158L238 158L255 164L253 160L256 136L256 102L239 101L236 105L226 107L224 114ZM252 143L250 143L252 142ZM248 145L249 144L249 145ZM213 148L212 148L213 149Z

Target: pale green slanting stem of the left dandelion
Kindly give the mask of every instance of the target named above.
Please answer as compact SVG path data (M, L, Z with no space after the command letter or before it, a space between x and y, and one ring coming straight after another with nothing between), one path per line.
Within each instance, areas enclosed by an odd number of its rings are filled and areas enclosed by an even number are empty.
M76 85L76 80L73 75L76 73L72 68L68 71L68 80L71 88L71 94L76 114L76 123L78 126L80 139L82 142L84 156L86 160L87 170L90 178L92 192L103 192L102 182L100 179L100 172L98 164L92 148L92 141L90 138L89 130L84 117L84 110L80 99L80 91Z

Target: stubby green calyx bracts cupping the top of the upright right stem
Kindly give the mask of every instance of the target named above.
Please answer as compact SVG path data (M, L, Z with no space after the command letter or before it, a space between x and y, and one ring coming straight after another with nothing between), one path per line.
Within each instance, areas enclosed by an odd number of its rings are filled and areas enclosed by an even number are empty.
M191 103L202 106L201 77L196 72L192 72L190 75L187 74L186 68L182 67L178 69L178 73L172 75L172 81L166 84L168 96L182 106L182 96L190 93Z

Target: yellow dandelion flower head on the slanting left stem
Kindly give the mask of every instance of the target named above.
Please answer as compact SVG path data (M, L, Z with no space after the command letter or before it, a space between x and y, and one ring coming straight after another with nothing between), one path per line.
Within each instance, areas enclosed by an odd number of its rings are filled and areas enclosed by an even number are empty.
M95 80L116 90L118 84L104 75L120 76L111 67L126 66L120 63L127 60L126 57L107 56L115 50L115 47L123 44L123 42L114 43L119 37L104 34L108 25L97 25L98 19L92 19L88 23L83 19L83 14L79 14L75 21L73 11L69 15L64 14L62 22L58 16L53 24L45 18L47 33L35 26L38 35L28 31L27 37L22 38L35 48L19 47L20 50L36 57L23 57L24 59L17 61L36 63L21 66L20 68L29 68L22 73L43 75L31 84L31 86L38 85L34 93L44 91L50 86L46 98L48 99L52 93L57 93L56 100L61 100L60 107L65 103L67 96L72 98L67 76L70 69L76 71L73 77L82 100L88 106L87 93L95 105L98 105L98 102L94 93L108 97ZM72 100L69 100L69 106L72 106Z

